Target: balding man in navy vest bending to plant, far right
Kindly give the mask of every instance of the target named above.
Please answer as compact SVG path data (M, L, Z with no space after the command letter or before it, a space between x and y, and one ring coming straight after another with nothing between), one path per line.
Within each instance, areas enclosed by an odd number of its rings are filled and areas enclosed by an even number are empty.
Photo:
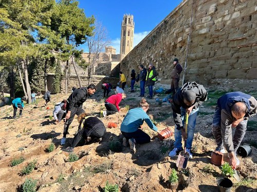
M212 132L217 144L215 151L225 153L225 144L233 169L240 164L236 151L245 136L247 121L256 113L257 101L251 95L231 92L217 100L212 121ZM232 127L236 128L234 136Z

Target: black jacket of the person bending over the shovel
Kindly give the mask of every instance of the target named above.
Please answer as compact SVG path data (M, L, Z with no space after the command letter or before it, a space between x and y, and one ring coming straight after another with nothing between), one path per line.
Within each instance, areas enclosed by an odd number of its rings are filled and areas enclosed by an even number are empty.
M187 82L183 84L181 88L179 88L176 93L173 95L173 102L172 102L172 110L173 110L173 118L175 121L175 124L177 125L177 129L180 130L183 128L182 120L181 120L181 110L182 108L189 108L190 106L187 106L183 99L183 93L187 90L192 90L196 93L196 99L194 102L194 108L197 109L199 105L201 105L204 101L207 100L207 91L205 90L204 86L201 84L197 84L196 82ZM191 105L191 106L193 106Z

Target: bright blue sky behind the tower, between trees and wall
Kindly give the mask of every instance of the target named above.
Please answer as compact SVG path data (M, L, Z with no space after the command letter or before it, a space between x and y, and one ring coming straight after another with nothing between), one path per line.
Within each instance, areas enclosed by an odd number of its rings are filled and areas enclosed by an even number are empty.
M87 17L94 17L107 30L111 46L120 53L121 22L124 14L134 15L134 47L157 26L182 0L79 0L79 7L84 9ZM126 6L125 6L126 5ZM86 51L85 46L82 49Z

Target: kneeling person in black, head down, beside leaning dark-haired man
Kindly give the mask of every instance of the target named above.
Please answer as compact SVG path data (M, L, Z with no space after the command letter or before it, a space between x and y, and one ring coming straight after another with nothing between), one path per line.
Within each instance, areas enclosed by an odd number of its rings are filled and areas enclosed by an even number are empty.
M74 153L74 148L80 142L82 137L85 140L84 144L89 144L100 142L106 133L103 122L95 116L89 116L87 113L82 113L78 117L78 121L80 123L78 132L70 142L70 146L63 150L64 152Z

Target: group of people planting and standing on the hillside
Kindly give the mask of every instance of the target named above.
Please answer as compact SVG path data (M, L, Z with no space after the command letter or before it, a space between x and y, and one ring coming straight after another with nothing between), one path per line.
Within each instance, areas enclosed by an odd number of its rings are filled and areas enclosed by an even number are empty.
M182 69L180 68L181 66L178 66L179 63L176 58L173 60L173 64L175 69L173 68L172 71L174 77L172 78L170 92L172 93L171 108L175 122L175 142L169 156L174 157L183 150L183 139L186 140L186 146L184 147L186 147L189 157L192 158L193 155L191 153L191 148L195 131L196 117L199 111L199 106L207 100L208 93L202 85L196 82L187 82L183 84L182 87L178 88L179 75ZM145 81L145 77L146 79L149 78L148 86L149 90L151 90L151 86L154 84L154 82L152 83L151 81L155 81L156 77L156 71L153 70L153 65L150 64L148 70L143 68L142 65L140 65L139 68L140 88L141 85L144 87L145 82L141 83L141 81ZM106 87L107 90L112 89L111 84L104 83L103 86ZM103 122L98 117L85 113L82 108L82 105L86 101L87 97L89 95L93 95L96 90L97 88L94 84L90 84L87 88L82 87L76 89L70 94L66 101L62 101L54 106L54 119L56 119L57 122L60 122L63 118L65 119L61 145L66 143L69 125L73 121L75 115L78 115L78 132L71 140L70 146L64 149L65 152L73 153L74 148L82 138L84 141L83 144L100 142L106 133L106 128ZM108 96L109 93L107 90L105 92L106 96ZM101 112L100 117L112 115L120 111L119 103L126 97L126 95L124 94L124 90L122 88L122 93L119 93L117 87L115 90L116 94L108 97L105 100L104 104L106 111ZM143 91L143 89L140 89L140 97L144 96ZM149 98L151 98L151 95ZM24 110L24 101L26 101L25 97L16 98L12 101L14 117L16 116L17 109L20 109L20 115L22 115L22 110ZM142 98L138 108L129 110L121 123L120 131L124 136L122 144L123 146L129 145L132 153L136 152L137 144L148 143L151 141L150 136L141 129L143 122L146 122L150 129L159 133L157 127L146 114L149 108L149 103L146 102L145 98ZM257 101L254 97L248 94L242 92L230 92L224 94L217 100L217 106L212 122L212 132L217 144L215 151L225 153L226 150L230 157L230 164L232 165L232 168L236 168L236 166L240 164L240 161L236 156L236 151L245 136L248 119L256 115L256 113ZM188 114L187 132L184 129L186 114ZM234 136L232 136L232 127L236 127Z

